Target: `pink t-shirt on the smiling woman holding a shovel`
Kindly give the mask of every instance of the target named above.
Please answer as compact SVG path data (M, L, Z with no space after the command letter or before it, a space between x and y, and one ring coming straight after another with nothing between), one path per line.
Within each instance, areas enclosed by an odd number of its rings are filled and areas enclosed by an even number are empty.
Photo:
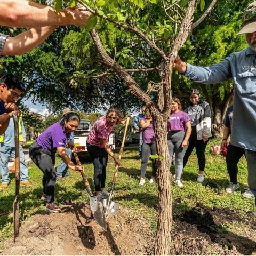
M89 132L87 143L103 148L100 139L109 139L110 133L114 130L115 125L110 126L107 122L107 116L100 117L92 126L92 130Z

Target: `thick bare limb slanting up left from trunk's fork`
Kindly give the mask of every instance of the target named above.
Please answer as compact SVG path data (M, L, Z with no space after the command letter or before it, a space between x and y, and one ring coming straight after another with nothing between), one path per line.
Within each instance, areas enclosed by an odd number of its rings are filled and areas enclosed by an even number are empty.
M126 70L121 67L116 61L114 61L107 52L105 51L104 47L101 44L100 38L97 32L94 29L90 30L90 35L94 42L94 45L97 47L102 59L101 62L106 65L107 67L114 69L116 74L127 84L128 91L132 94L136 95L138 99L144 102L150 110L156 111L158 110L157 105L155 102L151 100L149 95L147 95L144 91L140 89L140 86L133 80L133 78L126 72Z

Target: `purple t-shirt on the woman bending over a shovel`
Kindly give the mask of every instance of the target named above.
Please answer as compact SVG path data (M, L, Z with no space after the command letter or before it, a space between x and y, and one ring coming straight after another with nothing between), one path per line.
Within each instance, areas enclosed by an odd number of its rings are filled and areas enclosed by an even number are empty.
M47 128L37 139L36 142L43 149L56 152L58 147L64 148L70 138L70 133L63 130L60 122L54 123Z

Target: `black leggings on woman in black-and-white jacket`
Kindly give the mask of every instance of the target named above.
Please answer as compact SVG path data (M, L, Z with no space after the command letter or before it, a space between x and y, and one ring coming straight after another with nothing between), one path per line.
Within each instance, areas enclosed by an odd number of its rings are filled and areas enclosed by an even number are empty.
M199 171L204 171L205 168L205 148L207 146L209 140L204 142L203 140L198 140L197 139L197 134L196 134L196 126L192 126L192 133L189 138L189 143L188 143L188 149L185 153L185 156L183 158L183 168L188 162L188 158L191 155L192 151L194 148L196 148L196 156L198 159L198 165L199 165Z

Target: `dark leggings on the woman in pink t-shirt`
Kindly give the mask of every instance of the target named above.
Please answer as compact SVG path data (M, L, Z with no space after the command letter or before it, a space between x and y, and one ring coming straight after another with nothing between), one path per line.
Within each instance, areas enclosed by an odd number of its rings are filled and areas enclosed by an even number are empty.
M93 180L95 190L99 192L101 188L105 188L108 153L105 149L89 143L87 143L87 150L94 166Z

